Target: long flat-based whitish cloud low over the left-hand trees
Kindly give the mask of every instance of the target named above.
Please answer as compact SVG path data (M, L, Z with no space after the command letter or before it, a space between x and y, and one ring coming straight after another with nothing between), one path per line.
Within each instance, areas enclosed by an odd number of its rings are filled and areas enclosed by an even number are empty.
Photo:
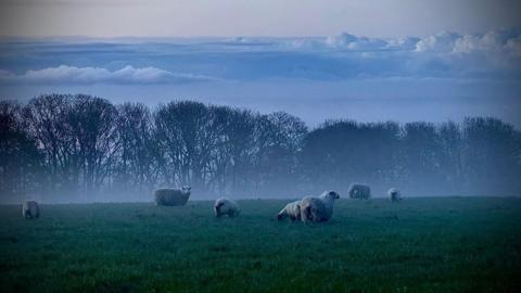
M0 71L0 81L24 84L186 84L207 81L214 78L203 75L171 73L155 67L135 68L127 65L111 72L103 67L76 67L60 65L43 69L29 69L15 75Z

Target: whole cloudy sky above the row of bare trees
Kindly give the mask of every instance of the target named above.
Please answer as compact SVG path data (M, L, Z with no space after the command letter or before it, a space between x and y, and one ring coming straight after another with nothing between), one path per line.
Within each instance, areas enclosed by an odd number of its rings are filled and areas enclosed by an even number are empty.
M521 128L519 1L0 0L0 99Z

